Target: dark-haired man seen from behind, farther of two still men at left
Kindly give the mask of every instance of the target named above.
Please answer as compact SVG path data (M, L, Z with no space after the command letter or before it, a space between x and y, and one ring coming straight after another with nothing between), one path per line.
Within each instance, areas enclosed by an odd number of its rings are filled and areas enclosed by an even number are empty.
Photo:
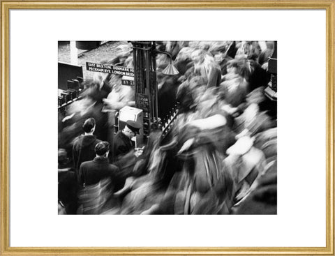
M93 160L96 156L94 148L96 144L101 142L95 135L93 135L96 129L96 121L94 118L89 118L84 121L82 130L84 135L80 135L75 138L73 143L73 162L75 164L75 170L78 172L82 162ZM77 173L78 174L78 173Z

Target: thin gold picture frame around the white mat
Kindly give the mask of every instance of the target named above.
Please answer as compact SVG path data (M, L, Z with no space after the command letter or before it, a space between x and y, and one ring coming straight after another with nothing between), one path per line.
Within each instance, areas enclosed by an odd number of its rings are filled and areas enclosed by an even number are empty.
M273 248L36 248L9 246L10 9L323 9L327 17L326 246ZM1 255L334 255L335 1L1 1Z

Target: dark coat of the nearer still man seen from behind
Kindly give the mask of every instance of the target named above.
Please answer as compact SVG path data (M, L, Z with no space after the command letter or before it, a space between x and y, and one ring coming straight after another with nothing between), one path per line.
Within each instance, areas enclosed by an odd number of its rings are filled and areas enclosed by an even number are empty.
M82 186L90 186L103 179L110 178L112 183L117 183L119 168L108 162L107 158L94 158L80 165L79 182Z

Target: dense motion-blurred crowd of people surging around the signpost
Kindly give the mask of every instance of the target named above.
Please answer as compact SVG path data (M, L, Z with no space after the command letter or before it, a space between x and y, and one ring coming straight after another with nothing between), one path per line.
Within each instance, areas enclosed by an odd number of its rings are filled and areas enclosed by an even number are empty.
M264 90L272 41L156 42L158 114L178 103L168 135L152 123L135 148L136 121L115 134L134 86L95 73L59 112L59 214L276 214L276 103ZM131 44L112 60L133 67Z

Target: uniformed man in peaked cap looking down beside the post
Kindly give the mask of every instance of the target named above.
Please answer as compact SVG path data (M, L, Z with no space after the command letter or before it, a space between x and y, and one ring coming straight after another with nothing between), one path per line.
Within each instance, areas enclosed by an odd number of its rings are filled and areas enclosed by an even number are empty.
M123 130L119 130L114 137L114 161L119 160L121 156L126 155L134 149L131 139L140 134L141 124L136 121L128 120Z

